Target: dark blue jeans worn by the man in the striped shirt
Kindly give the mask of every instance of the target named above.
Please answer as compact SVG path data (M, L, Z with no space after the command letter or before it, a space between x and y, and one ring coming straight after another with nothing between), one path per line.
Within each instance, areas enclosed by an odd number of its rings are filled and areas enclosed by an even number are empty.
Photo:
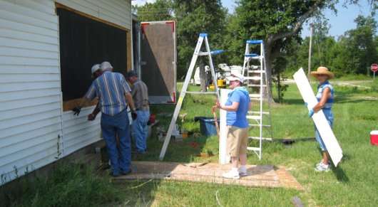
M127 111L123 110L115 116L102 114L101 130L111 159L113 175L120 174L120 171L127 173L131 164L130 124ZM116 134L118 134L119 148Z

